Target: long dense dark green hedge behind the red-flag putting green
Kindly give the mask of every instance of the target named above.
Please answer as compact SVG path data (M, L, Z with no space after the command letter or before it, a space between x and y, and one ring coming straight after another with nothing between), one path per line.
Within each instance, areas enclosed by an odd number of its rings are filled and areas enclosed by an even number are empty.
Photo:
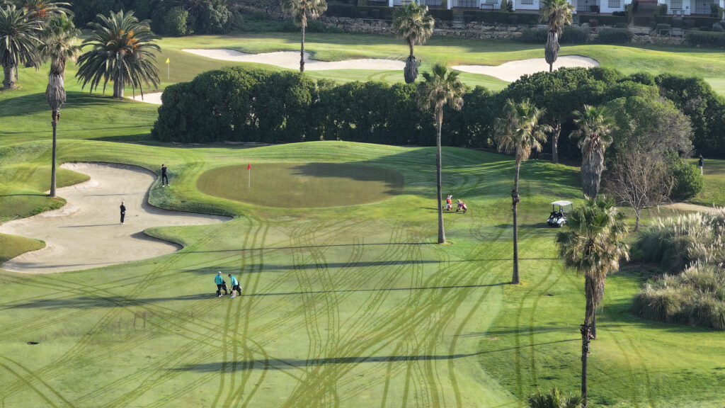
M402 78L402 73L401 73ZM444 144L492 147L494 118L505 99L531 99L546 108L547 123L562 126L559 151L579 157L571 113L619 98L665 97L692 123L693 146L725 157L725 99L700 78L608 68L562 68L523 76L497 94L468 91L463 110L446 109ZM433 142L434 123L415 105L415 85L313 81L299 73L225 68L167 87L154 138L174 142L298 142L343 139L384 144ZM545 147L546 150L549 147Z

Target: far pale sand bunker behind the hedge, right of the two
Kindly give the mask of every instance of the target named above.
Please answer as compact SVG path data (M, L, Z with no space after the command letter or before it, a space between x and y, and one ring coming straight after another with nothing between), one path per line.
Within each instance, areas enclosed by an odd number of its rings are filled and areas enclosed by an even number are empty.
M559 68L592 68L598 66L599 61L594 58L584 57L583 55L564 55L558 57L556 62L554 62L555 70ZM506 62L502 65L456 65L452 68L465 73L480 73L494 76L503 81L513 82L523 75L548 71L549 64L547 64L544 58L532 58L531 60Z

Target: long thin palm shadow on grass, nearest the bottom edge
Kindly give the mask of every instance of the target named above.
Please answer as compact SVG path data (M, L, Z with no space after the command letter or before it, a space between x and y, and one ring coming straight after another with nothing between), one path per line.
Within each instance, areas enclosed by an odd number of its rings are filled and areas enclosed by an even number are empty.
M203 364L188 364L182 367L168 369L169 371L190 371L190 372L217 372L225 371L233 368L235 371L247 370L286 370L288 368L298 367L317 367L321 365L331 364L361 364L361 363L385 363L385 362L420 362L434 360L453 360L463 359L466 357L480 356L481 354L492 354L500 351L510 351L518 348L529 348L535 346L544 346L547 344L566 343L577 341L578 338L568 340L550 341L547 343L529 344L526 346L500 348L498 350L478 351L476 353L465 354L441 354L421 356L352 356L352 357L323 357L320 359L269 359L269 360L241 360L238 362L214 362Z

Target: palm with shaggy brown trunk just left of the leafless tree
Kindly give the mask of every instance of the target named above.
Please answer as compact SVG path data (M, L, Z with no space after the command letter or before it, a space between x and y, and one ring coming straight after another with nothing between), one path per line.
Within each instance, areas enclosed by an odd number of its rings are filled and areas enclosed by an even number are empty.
M579 139L581 188L585 197L597 198L604 171L604 151L612 143L612 132L616 128L614 119L603 106L584 105L584 110L577 110L573 115L577 129L569 137Z

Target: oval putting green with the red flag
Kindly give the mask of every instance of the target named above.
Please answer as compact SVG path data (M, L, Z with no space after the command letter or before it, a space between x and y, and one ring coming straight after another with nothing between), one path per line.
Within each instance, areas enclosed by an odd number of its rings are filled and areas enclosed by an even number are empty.
M250 182L251 172L251 182ZM341 207L387 200L405 179L388 168L339 163L267 163L214 168L199 176L199 191L278 208Z

